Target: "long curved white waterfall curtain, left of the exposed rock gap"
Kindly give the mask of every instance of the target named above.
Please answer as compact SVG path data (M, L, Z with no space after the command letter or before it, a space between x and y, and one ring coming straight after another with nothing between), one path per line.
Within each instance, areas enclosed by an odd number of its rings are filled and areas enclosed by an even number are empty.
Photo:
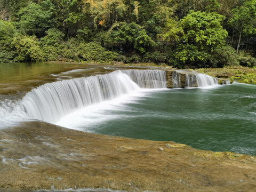
M21 103L29 118L54 123L76 109L114 99L140 87L166 87L165 71L117 70L106 75L47 83L27 93Z

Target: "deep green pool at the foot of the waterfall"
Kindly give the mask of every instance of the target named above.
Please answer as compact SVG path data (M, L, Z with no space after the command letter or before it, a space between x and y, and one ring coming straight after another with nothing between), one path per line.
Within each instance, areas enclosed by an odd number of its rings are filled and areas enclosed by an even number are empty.
M255 85L154 91L101 115L116 118L86 130L256 156Z

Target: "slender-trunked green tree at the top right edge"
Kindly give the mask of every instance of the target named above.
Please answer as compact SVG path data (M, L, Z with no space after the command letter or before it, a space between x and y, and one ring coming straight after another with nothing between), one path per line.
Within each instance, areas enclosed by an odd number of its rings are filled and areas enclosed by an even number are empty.
M234 33L237 32L239 36L236 49L236 54L238 54L242 34L250 35L256 33L256 1L246 1L243 5L233 9L232 12L233 15L228 23L233 28Z

